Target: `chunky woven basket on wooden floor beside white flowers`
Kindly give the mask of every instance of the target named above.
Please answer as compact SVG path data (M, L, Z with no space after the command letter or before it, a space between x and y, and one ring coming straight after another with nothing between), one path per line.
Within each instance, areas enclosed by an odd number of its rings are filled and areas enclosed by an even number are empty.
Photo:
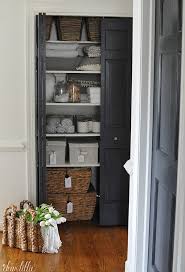
M20 209L23 209L25 204L29 206L28 212L34 217L34 206L31 202L22 201ZM17 207L14 205L5 210L2 244L20 248L23 251L42 252L43 239L40 225L27 222L25 215L20 218L16 217L17 211Z

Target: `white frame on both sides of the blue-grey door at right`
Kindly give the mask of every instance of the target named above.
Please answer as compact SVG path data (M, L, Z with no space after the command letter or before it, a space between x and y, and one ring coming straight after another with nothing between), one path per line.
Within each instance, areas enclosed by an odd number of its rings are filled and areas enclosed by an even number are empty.
M183 2L178 176L173 272L185 270L185 0ZM155 1L133 0L133 82L130 218L126 271L146 272L153 130ZM146 102L147 101L147 102ZM146 105L146 104L147 105ZM139 113L134 115L135 107ZM146 129L146 131L143 131ZM140 154L140 147L142 154ZM135 211L134 211L135 209ZM144 210L144 212L143 212Z

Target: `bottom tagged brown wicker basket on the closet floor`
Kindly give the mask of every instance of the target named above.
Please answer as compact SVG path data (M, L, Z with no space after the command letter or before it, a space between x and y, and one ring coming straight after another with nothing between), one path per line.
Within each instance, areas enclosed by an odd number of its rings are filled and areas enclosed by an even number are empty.
M67 203L73 203L73 212L67 213ZM49 194L48 202L63 212L67 221L91 220L96 206L96 192L86 194Z

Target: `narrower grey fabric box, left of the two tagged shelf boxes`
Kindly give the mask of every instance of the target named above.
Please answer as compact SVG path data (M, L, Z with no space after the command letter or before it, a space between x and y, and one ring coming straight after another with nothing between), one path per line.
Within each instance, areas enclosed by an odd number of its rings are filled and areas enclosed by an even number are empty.
M66 141L47 141L46 145L46 164L60 165L65 164Z

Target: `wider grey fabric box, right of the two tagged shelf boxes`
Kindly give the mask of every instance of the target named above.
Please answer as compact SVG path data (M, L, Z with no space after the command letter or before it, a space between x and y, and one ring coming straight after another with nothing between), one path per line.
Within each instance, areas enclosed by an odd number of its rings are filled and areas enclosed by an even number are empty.
M69 158L71 164L97 164L98 142L69 141Z

